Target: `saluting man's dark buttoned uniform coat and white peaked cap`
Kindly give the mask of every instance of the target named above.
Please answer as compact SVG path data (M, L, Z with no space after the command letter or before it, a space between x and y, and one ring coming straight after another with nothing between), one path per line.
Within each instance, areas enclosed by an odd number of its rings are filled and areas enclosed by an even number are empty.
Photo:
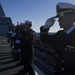
M75 5L69 3L58 3L56 7L57 16L60 12L75 11ZM40 39L55 47L54 75L75 75L75 25L66 32L59 30L54 35L48 35L48 31L41 26Z

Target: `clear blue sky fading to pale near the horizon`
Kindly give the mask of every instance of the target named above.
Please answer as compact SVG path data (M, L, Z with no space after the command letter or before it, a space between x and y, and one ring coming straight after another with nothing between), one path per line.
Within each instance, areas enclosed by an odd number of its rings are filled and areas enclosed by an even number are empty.
M59 2L75 4L75 0L0 0L6 17L11 17L12 23L32 21L32 29L40 32L45 21L56 15L56 5ZM49 32L60 30L58 19Z

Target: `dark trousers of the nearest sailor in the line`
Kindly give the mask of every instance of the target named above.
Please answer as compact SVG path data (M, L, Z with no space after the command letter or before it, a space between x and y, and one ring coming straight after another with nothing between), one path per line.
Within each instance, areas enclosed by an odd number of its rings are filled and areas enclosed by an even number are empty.
M26 54L23 50L21 51L21 61L23 62L23 73L29 73L29 75L35 75L35 70L33 67L32 55Z

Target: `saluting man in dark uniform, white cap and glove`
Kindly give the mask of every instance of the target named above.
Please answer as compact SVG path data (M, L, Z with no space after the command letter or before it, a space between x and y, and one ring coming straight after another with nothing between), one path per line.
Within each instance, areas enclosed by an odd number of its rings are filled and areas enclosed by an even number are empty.
M47 19L40 27L40 39L55 47L54 75L75 75L75 5L60 2L56 5L56 12L56 16ZM63 30L48 35L55 18Z

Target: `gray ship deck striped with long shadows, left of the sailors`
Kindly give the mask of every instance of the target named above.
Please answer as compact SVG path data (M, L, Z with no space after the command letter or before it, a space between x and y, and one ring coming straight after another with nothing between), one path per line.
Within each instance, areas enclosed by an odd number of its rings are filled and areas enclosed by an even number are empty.
M0 75L13 75L17 73L23 67L16 66L18 62L12 60L11 47L6 38L0 37Z

